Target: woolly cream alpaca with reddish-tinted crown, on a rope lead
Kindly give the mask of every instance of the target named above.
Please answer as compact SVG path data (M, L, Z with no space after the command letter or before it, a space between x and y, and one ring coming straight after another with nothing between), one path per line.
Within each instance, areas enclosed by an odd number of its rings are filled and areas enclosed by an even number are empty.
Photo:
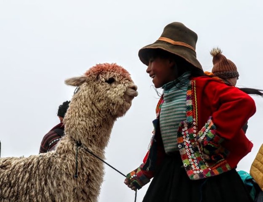
M65 136L56 150L0 159L0 201L95 202L111 129L137 96L130 74L117 64L97 64L83 76L65 80L77 86L64 118Z

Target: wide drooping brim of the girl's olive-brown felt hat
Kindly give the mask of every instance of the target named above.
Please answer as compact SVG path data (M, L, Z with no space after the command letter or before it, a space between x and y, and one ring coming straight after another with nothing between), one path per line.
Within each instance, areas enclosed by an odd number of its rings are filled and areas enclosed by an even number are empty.
M202 65L196 59L196 53L193 50L185 46L173 45L173 44L163 42L163 41L156 41L152 44L142 47L139 50L138 55L143 64L148 65L149 50L157 49L157 48L160 48L162 50L165 50L177 56L180 56L183 59L185 59L187 62L189 62L190 64L194 65L194 67L197 67L203 70Z

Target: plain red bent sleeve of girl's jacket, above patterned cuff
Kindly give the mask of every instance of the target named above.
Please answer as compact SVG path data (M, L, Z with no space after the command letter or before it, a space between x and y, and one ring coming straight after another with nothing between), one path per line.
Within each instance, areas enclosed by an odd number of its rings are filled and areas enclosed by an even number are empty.
M232 139L256 112L254 100L236 87L209 82L204 91L212 98L212 121L224 139Z

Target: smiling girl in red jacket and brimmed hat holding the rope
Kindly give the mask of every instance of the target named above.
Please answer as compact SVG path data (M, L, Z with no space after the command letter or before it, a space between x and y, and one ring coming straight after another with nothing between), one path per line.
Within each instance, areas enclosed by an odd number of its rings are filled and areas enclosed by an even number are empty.
M139 51L154 86L164 89L150 148L124 181L136 190L153 178L143 202L251 201L235 168L253 146L242 126L255 103L205 76L196 42L194 31L175 22Z

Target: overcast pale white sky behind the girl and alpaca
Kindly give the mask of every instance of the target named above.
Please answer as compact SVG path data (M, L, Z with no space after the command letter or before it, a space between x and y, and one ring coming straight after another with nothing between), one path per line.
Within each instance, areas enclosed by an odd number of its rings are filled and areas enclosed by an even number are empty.
M238 67L238 86L263 89L262 19L259 0L0 0L1 157L38 154L44 134L59 122L58 105L73 94L64 80L94 64L116 62L131 73L139 96L115 123L106 160L128 173L147 151L158 101L138 50L166 24L182 22L198 34L204 70L211 70L209 51L219 46ZM254 147L238 170L249 171L263 142L263 98L253 98L257 113L247 136ZM134 201L123 176L105 170L99 201ZM138 191L137 201L147 188Z

